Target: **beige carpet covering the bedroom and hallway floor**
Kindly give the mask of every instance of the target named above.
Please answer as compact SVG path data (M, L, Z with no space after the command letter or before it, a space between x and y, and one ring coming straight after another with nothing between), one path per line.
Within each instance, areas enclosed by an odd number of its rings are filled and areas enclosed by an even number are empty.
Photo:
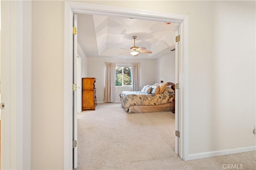
M256 169L256 152L183 161L174 153L174 113L126 113L120 103L78 113L77 170ZM227 168L226 168L227 169Z

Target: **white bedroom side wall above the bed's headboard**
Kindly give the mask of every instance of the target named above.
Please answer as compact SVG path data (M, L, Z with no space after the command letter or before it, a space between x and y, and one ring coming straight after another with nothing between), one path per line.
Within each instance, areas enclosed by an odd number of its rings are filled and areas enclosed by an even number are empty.
M175 51L156 59L155 82L175 83Z

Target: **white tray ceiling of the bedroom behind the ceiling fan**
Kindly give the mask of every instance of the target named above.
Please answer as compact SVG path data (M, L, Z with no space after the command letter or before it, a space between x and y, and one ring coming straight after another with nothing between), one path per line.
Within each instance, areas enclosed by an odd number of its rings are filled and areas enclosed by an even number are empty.
M164 22L130 18L87 14L77 16L78 43L87 57L132 59L134 56L125 52L134 46L134 35L137 36L137 47L146 47L145 51L152 51L152 54L139 53L138 59L156 59L173 53L170 50L175 48L177 23L166 25Z

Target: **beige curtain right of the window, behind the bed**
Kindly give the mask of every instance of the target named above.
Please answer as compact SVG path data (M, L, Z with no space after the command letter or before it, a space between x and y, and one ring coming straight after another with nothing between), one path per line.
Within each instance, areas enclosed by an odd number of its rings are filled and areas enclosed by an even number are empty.
M132 91L140 91L140 63L132 63Z

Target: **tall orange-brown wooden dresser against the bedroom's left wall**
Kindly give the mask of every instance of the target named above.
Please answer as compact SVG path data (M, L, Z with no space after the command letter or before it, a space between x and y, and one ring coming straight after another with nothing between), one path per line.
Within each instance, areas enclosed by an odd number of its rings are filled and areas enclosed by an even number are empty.
M82 78L82 110L95 110L96 100L96 78Z

